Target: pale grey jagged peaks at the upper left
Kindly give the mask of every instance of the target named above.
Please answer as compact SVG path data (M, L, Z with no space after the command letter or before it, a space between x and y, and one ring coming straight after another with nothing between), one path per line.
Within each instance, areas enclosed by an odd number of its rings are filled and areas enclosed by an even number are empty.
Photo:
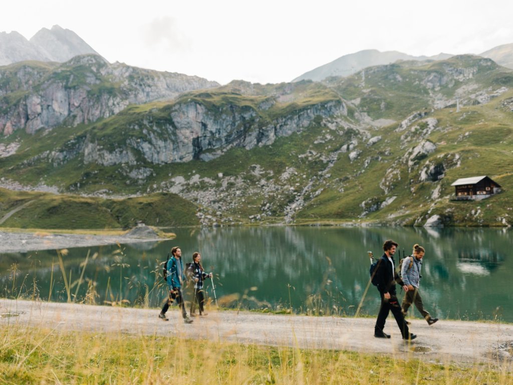
M73 56L98 53L75 32L54 25L43 28L27 40L18 32L0 32L0 66L35 60L67 62Z

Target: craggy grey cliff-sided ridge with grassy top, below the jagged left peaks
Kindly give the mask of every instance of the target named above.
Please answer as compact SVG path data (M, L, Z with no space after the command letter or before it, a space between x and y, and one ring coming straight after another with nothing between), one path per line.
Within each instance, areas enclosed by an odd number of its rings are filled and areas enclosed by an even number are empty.
M0 68L0 133L29 133L61 124L76 126L108 118L129 104L172 99L180 92L218 86L197 76L109 64L96 55L76 56L59 66Z

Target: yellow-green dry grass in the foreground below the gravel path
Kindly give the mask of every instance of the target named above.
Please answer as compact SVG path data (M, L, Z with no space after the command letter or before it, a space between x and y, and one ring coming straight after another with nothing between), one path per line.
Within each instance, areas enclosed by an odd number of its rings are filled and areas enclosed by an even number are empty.
M182 337L92 334L3 324L0 383L511 384L488 364L261 347Z

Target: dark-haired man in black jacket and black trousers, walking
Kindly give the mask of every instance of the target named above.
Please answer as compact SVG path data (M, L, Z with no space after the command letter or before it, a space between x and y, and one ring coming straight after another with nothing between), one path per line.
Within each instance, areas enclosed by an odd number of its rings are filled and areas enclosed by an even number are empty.
M378 261L376 278L378 280L378 291L381 296L381 306L376 325L374 326L374 337L390 338L390 335L386 334L383 329L385 328L386 318L391 311L396 318L403 339L412 340L417 338L417 336L409 332L408 325L401 311L401 305L397 299L396 281L403 286L405 292L408 291L408 287L396 273L393 255L396 254L397 246L398 244L392 240L385 241L385 243L383 243L383 251L385 253Z

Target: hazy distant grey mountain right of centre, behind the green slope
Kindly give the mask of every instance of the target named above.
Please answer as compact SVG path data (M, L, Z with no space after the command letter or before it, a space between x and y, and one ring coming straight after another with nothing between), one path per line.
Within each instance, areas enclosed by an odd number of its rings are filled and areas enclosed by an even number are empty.
M436 61L448 59L451 56L452 55L447 53L440 53L429 57L411 56L398 51L380 52L376 49L367 49L341 56L339 59L336 59L331 63L314 68L311 71L298 76L292 80L292 82L298 82L300 80L322 81L329 76L349 76L366 67L390 64L397 62L398 60Z

